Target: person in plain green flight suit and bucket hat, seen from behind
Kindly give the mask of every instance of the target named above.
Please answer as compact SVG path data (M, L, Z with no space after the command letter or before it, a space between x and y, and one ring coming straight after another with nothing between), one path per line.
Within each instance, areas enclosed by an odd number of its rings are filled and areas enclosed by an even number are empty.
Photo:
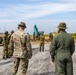
M66 23L61 22L58 28L59 33L53 38L50 47L52 62L55 60L56 75L73 75L74 38L65 31Z

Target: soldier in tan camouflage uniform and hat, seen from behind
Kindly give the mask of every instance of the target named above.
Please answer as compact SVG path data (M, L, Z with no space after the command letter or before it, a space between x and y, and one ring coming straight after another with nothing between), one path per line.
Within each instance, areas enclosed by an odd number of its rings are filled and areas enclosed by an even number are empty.
M27 34L24 33L25 28L26 24L21 22L18 25L18 31L16 31L11 37L10 44L11 46L14 44L14 71L12 75L17 75L19 66L19 75L26 75L28 59L32 57L31 44L29 43L30 41L28 41Z

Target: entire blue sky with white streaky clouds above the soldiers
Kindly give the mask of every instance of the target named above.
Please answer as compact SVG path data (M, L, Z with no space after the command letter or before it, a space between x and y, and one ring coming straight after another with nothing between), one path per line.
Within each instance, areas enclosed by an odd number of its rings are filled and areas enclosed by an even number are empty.
M66 22L67 32L76 32L76 0L0 0L0 32L17 30L20 22L26 32L57 31L60 22Z

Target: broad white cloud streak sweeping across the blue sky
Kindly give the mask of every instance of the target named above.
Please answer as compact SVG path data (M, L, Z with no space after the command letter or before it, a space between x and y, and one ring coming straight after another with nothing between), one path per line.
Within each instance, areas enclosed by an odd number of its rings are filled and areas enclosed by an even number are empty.
M76 3L44 3L37 5L11 5L0 8L0 22L14 22L40 18L56 13L76 11Z

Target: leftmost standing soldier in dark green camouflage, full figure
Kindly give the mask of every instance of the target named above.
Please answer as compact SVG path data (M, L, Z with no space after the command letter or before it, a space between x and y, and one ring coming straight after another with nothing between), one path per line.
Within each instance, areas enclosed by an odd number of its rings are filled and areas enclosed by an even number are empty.
M9 44L9 37L8 37L8 31L5 32L5 35L3 37L3 59L6 59L9 57L8 54L8 44Z

